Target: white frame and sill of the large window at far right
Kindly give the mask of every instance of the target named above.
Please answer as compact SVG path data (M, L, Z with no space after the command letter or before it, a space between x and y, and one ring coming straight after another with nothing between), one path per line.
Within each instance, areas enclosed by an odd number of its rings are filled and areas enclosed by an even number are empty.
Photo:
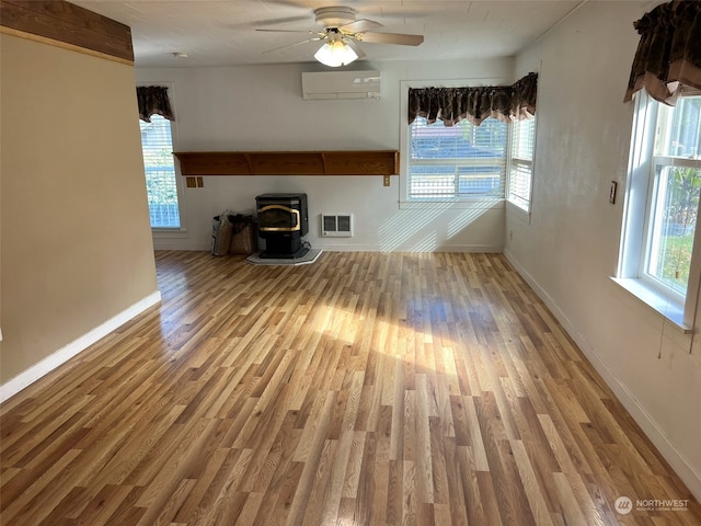
M700 93L688 93L688 95L698 94ZM619 263L613 281L683 332L690 332L694 324L701 285L699 222L694 227L686 295L665 286L646 271L652 243L652 214L656 206L654 199L658 198L659 178L656 175L656 167L679 165L680 161L680 158L655 155L655 142L659 129L658 104L644 91L635 95ZM701 160L691 162L701 165ZM687 164L683 160L681 163Z

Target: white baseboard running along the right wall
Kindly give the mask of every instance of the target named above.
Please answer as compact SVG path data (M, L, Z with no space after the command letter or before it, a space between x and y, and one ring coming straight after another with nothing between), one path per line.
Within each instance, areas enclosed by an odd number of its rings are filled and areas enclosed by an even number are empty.
M588 344L586 339L579 334L567 319L567 317L560 310L553 299L545 293L545 290L538 284L538 282L518 263L518 261L507 250L504 251L504 255L512 265L518 271L521 277L528 283L528 285L536 291L536 294L542 299L542 301L552 311L558 321L565 329L567 334L572 336L577 346L582 350L587 359L591 363L594 368L601 375L604 381L613 391L618 400L631 414L633 420L641 426L643 433L647 435L651 442L659 450L665 460L669 462L671 469L679 476L679 478L687 484L689 491L696 496L698 501L701 501L701 473L698 473L693 466L685 458L685 456L669 442L664 431L657 425L657 422L650 415L650 413L642 407L633 393L619 381L611 369L606 365L606 362L597 354L597 352Z

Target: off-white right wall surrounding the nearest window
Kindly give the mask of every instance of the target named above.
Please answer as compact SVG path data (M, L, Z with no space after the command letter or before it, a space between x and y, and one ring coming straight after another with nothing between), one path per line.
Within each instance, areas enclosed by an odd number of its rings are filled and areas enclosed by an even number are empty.
M639 38L632 22L644 11L639 2L585 3L517 57L517 72L541 64L536 179L530 224L508 208L505 252L700 498L699 339L609 279L633 113L622 103Z

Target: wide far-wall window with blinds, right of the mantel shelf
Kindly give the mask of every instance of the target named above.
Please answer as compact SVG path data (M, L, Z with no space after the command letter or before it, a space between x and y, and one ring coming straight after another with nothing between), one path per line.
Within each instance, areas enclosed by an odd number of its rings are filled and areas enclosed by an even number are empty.
M480 126L462 119L453 126L410 126L407 197L410 201L455 201L504 197L507 125L495 118Z

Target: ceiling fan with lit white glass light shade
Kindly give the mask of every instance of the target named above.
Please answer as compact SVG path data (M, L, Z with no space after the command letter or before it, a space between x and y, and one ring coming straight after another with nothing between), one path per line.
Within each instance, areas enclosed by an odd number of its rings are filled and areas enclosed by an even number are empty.
M319 8L314 10L317 23L323 25L323 31L297 31L297 30L256 30L281 33L308 33L313 35L306 41L290 46L276 47L265 53L275 52L285 47L298 46L308 42L323 42L324 44L314 54L320 62L338 67L365 57L365 53L357 45L358 42L372 44L398 44L400 46L418 46L424 42L423 35L406 35L402 33L376 33L372 30L382 27L382 24L371 20L356 20L355 10L343 5Z

